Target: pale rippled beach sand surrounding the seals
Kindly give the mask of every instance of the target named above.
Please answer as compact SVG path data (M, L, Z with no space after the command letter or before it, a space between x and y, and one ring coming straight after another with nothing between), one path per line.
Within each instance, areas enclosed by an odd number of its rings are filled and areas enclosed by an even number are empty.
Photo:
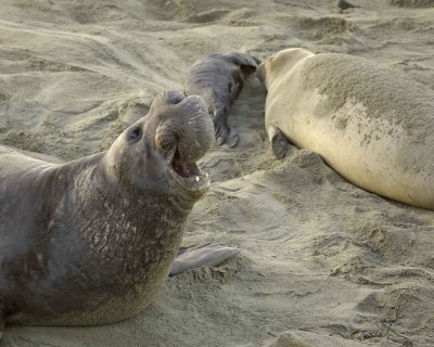
M434 88L434 9L353 3L3 0L0 143L63 159L106 149L208 53L350 53ZM365 192L308 151L273 159L264 102L250 79L229 116L239 145L203 159L215 183L184 237L238 258L169 279L128 321L9 327L0 346L433 346L434 213Z

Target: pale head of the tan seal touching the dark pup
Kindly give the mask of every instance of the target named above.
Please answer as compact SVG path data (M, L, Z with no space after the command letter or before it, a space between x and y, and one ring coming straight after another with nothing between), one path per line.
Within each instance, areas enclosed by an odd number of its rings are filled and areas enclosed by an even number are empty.
M303 48L289 48L268 57L258 66L256 74L268 89L270 80L276 76L288 73L301 61L311 55L314 53Z

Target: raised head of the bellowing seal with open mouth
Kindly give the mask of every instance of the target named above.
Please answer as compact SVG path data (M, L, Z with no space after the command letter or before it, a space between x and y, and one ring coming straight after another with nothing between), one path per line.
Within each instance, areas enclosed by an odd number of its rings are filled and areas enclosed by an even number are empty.
M209 180L196 165L214 141L205 101L180 91L156 97L149 114L126 129L104 158L107 176L138 192L181 196L194 203Z

